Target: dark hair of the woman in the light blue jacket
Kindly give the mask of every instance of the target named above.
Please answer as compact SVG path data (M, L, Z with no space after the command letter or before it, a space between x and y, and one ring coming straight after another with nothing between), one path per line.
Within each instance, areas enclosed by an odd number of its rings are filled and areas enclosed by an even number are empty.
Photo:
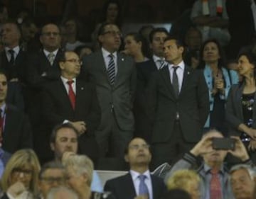
M203 60L203 50L209 42L214 42L217 45L218 52L220 55L220 58L218 59L218 68L220 69L221 67L225 67L225 53L220 45L220 42L218 42L218 40L216 39L208 39L205 42L203 42L200 48L198 69L204 69L206 67L206 62Z

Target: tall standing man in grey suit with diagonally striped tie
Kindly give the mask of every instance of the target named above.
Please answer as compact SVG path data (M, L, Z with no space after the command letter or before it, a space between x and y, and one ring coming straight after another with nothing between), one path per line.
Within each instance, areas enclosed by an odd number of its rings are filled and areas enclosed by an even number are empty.
M96 139L100 156L122 158L124 146L132 139L134 116L132 104L136 87L136 69L131 57L119 54L121 33L117 25L103 23L98 40L98 52L85 57L85 78L94 82L102 110Z

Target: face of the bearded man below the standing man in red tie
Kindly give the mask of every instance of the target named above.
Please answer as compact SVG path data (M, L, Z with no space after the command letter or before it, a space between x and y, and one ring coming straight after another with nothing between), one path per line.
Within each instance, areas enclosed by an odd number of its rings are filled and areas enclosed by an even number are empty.
M78 152L78 136L70 128L61 128L58 130L55 143L50 143L55 157L61 159L64 152Z

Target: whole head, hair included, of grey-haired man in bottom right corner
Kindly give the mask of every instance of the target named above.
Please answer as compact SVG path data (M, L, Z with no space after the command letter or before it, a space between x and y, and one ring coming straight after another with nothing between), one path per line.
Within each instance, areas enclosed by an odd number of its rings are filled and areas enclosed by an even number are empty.
M235 199L255 198L255 166L238 164L230 169L230 183Z

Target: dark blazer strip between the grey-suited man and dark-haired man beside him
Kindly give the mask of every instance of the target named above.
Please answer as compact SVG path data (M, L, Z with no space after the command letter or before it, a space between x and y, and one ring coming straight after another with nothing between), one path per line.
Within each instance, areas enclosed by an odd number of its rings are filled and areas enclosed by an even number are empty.
M137 86L134 98L134 120L135 120L135 137L143 137L147 142L149 142L150 134L150 120L147 114L146 106L146 87L149 84L149 79L152 72L156 72L157 68L153 60L148 60L146 62L136 63L137 69Z

